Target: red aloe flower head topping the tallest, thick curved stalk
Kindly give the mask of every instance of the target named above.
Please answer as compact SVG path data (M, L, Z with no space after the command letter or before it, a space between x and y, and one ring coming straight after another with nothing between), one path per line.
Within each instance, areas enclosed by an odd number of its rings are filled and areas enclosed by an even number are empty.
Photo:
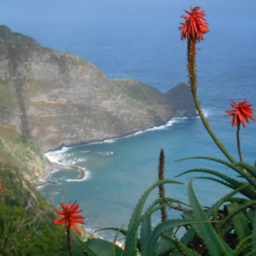
M181 23L178 29L181 30L181 39L185 38L195 38L196 41L204 39L203 34L209 32L208 23L205 22L204 16L206 15L204 11L200 10L201 7L190 7L191 11L185 10L189 15L182 15L181 17L185 19L185 23Z

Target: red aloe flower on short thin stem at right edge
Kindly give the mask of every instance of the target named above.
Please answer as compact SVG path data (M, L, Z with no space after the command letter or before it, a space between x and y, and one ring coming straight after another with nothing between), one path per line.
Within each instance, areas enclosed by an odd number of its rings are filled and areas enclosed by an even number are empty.
M231 100L231 107L234 109L227 110L225 116L232 116L232 126L242 124L243 127L249 122L249 119L255 120L253 117L253 108L251 104L247 104L246 100L235 102Z

